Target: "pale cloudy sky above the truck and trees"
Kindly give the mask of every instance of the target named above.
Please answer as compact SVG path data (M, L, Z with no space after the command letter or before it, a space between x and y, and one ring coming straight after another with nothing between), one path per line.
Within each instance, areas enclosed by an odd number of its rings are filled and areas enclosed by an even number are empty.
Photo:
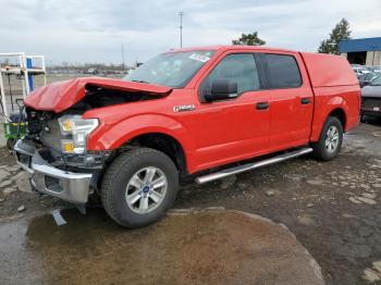
M258 30L269 47L316 51L342 18L353 38L381 37L380 0L0 0L0 52L47 64L144 62L183 46L230 45Z

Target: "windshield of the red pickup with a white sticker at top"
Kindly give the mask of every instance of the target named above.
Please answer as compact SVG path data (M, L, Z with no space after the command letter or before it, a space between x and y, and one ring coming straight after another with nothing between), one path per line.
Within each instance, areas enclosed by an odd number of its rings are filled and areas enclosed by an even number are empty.
M162 53L147 61L124 80L184 87L214 51L196 50Z

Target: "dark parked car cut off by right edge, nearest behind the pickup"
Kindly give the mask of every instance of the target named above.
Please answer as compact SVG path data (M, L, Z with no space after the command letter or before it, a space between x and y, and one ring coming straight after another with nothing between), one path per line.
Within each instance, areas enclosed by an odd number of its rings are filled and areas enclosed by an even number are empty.
M381 116L381 75L372 79L361 89L362 115Z

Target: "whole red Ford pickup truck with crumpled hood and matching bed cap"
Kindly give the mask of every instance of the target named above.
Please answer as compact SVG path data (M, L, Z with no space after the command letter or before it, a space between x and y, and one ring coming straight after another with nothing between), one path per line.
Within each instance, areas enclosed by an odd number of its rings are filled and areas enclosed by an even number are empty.
M308 152L333 159L360 88L341 57L224 46L162 53L123 79L52 83L24 103L14 152L33 187L77 205L99 195L137 227L190 174L202 184Z

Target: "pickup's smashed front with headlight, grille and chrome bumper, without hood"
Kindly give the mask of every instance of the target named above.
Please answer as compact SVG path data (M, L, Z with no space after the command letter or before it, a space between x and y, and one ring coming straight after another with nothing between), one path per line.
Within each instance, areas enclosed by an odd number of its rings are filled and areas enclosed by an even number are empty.
M14 145L17 164L32 174L34 189L74 203L86 203L112 151L87 151L97 119L26 108L27 132Z

